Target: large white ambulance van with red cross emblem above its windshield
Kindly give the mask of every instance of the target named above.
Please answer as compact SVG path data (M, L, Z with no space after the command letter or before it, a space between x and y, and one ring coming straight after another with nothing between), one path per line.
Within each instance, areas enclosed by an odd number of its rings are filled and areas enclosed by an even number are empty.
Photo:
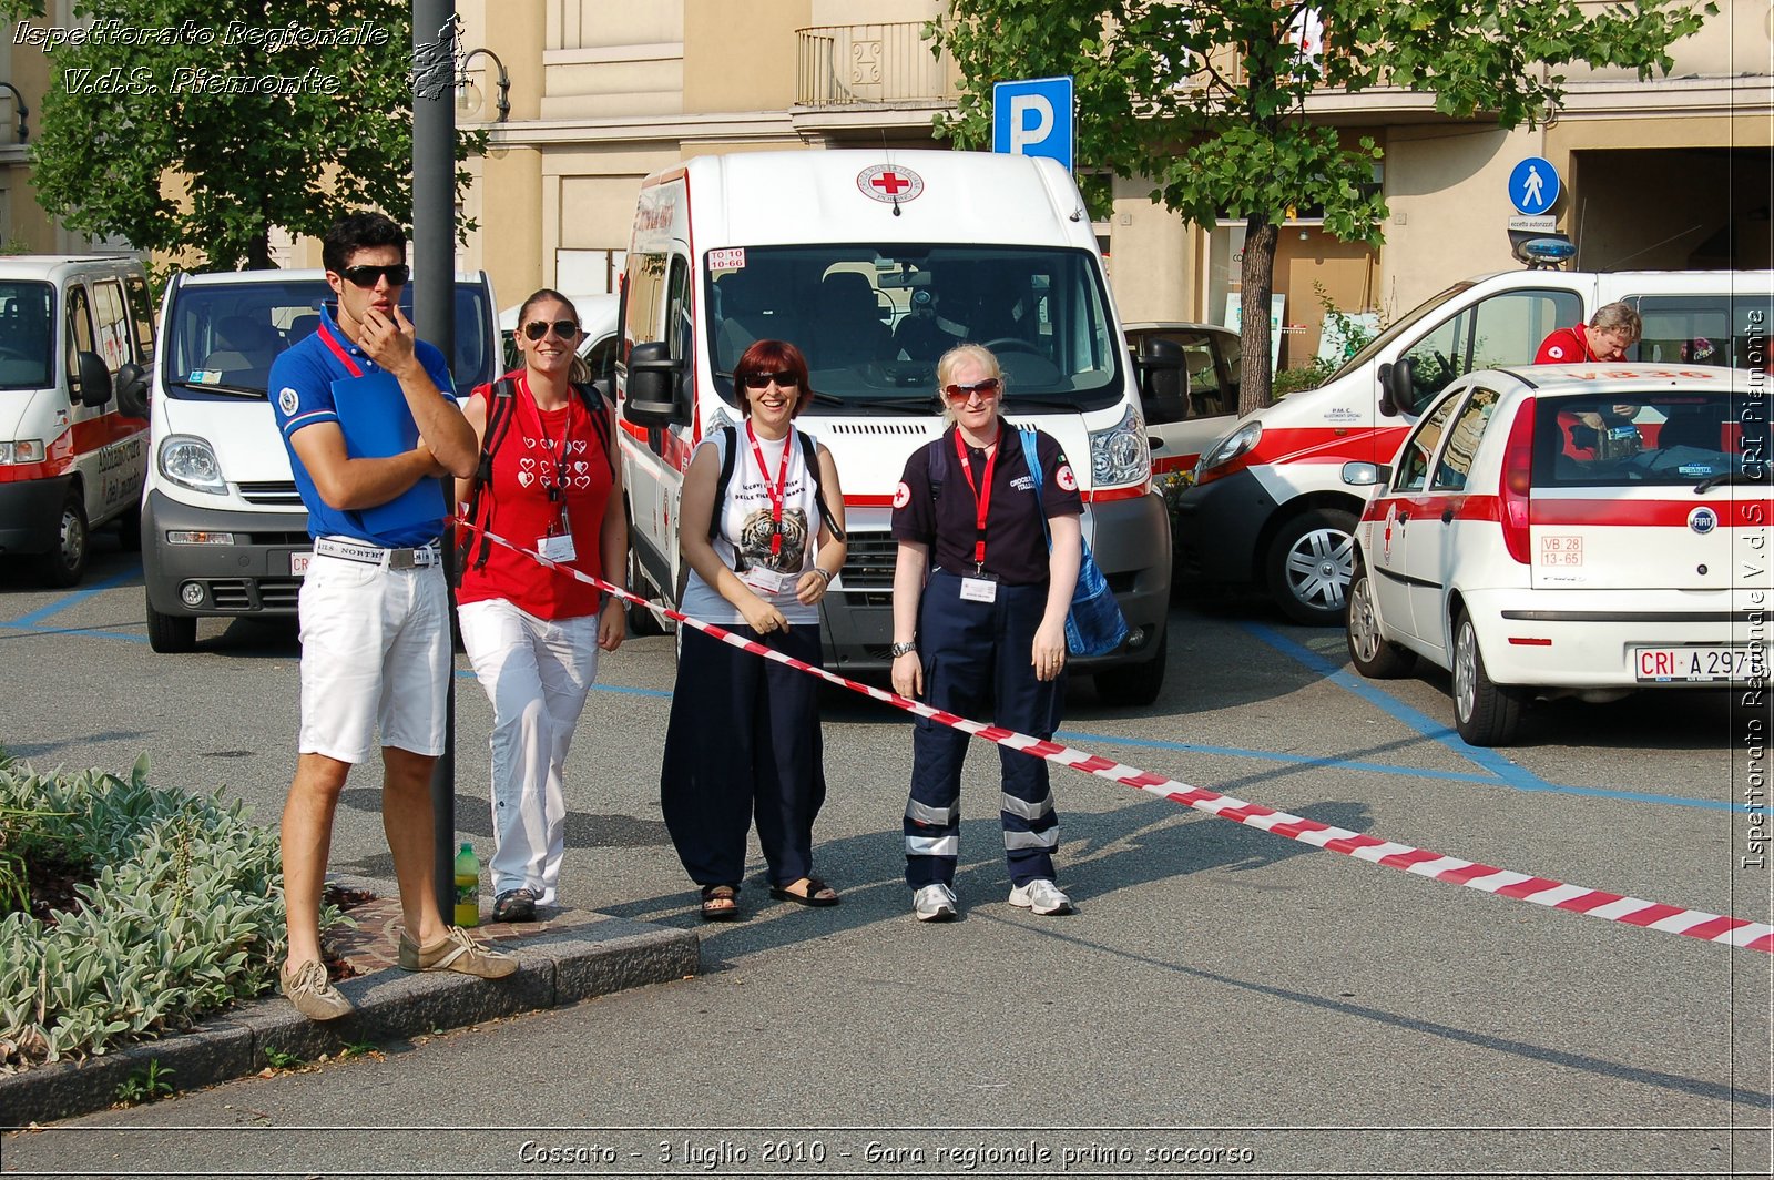
M944 429L937 357L974 341L1004 369L1004 413L1071 456L1086 536L1126 614L1128 642L1079 671L1096 673L1109 701L1157 697L1169 522L1096 238L1056 161L947 151L695 158L642 183L623 300L616 383L637 593L676 600L690 451L740 421L733 366L745 348L789 341L816 390L797 424L830 447L844 483L850 555L821 605L825 657L836 671L885 669L892 493L912 451Z

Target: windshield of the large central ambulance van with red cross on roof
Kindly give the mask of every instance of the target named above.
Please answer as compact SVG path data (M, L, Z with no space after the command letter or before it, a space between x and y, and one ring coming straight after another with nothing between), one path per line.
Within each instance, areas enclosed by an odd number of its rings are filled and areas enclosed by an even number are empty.
M935 408L937 358L963 341L997 355L1009 412L1018 399L1096 408L1121 396L1126 350L1087 250L749 247L711 250L706 284L715 387L729 405L733 366L759 339L800 348L821 410L837 413Z

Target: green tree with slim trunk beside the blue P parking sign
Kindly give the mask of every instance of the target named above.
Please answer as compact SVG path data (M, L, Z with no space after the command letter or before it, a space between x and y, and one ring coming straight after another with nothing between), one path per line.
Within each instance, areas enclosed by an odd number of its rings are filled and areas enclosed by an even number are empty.
M1668 48L1699 28L1710 0L949 0L928 34L953 55L958 112L937 133L992 142L992 83L1071 75L1077 165L1155 183L1153 201L1199 225L1245 225L1244 382L1238 410L1270 392L1268 302L1290 208L1322 208L1325 231L1378 247L1380 147L1306 115L1315 90L1432 92L1451 119L1535 126L1563 98L1561 67L1668 73ZM1316 18L1325 48L1302 55Z

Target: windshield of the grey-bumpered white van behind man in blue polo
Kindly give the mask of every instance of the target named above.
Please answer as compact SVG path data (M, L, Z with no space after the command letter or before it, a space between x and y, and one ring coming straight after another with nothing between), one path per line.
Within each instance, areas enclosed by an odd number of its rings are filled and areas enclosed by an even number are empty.
M280 351L314 332L332 289L314 279L263 282L184 284L161 325L161 364L172 397L264 397L271 362ZM413 314L412 286L401 293L401 314ZM456 284L456 355L451 374L456 392L491 382L497 357L488 341L493 309L475 282ZM424 339L424 332L419 334Z

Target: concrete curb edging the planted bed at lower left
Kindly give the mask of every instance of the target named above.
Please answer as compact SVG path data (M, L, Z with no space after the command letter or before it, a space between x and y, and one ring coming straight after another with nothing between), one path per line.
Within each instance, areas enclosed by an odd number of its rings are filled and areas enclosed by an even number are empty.
M577 917L577 916L575 916ZM357 1004L339 1020L318 1024L282 995L247 1001L216 1013L188 1033L140 1042L85 1061L57 1061L0 1077L0 1111L11 1130L103 1111L117 1102L117 1088L131 1074L158 1061L174 1093L257 1074L266 1050L303 1061L337 1054L353 1043L406 1040L435 1029L454 1029L573 1004L646 983L694 976L701 940L690 930L633 923L607 914L585 914L564 930L522 940L500 940L498 949L518 956L506 979L475 979L454 972L420 974L399 969L342 979L335 987Z

